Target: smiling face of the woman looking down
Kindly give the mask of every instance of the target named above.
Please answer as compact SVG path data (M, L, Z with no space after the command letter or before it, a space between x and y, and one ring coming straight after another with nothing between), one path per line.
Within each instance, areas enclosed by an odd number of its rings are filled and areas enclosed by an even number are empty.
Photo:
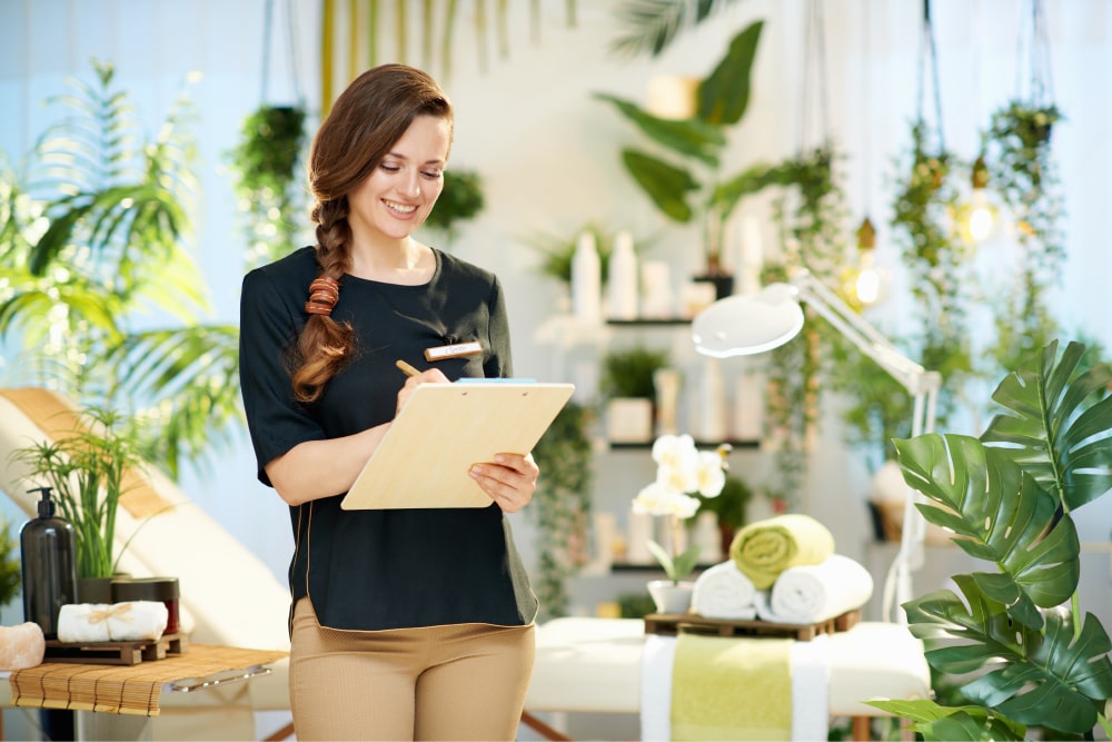
M371 174L348 194L348 224L356 239L405 239L425 221L444 189L450 142L447 119L414 119Z

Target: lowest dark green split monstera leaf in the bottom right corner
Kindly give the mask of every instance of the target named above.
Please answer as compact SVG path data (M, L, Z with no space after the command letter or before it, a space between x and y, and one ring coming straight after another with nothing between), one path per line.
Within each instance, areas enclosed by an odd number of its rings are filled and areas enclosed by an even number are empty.
M906 604L911 632L927 646L926 660L945 673L979 673L962 686L973 703L1013 721L1072 733L1096 724L1098 705L1112 695L1112 642L1086 615L1074 639L1068 611L1044 612L1045 631L1016 624L985 597L970 575L955 575L963 603L947 590Z

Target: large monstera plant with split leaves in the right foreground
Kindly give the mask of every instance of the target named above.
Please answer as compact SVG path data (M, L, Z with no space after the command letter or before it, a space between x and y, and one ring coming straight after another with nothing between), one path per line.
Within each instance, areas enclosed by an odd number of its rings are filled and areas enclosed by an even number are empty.
M1045 739L1112 734L1112 642L1082 613L1074 513L1112 491L1112 367L1058 342L996 387L1002 410L979 437L929 434L896 442L904 481L985 572L954 575L904 604L935 671L953 676L961 705L874 701L924 739ZM1050 736L1053 734L1053 736Z

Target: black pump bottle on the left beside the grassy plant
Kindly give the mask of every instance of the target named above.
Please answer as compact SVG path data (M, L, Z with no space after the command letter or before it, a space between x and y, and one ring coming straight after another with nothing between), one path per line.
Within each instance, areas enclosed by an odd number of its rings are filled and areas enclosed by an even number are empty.
M77 602L77 535L69 521L54 515L50 487L29 492L42 493L42 499L39 516L19 532L23 620L39 624L46 639L57 639L58 613Z

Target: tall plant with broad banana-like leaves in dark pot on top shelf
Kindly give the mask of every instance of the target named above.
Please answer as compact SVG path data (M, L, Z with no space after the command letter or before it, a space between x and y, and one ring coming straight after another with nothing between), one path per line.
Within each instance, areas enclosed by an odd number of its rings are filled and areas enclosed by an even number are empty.
M763 22L737 33L717 67L699 81L695 115L688 119L663 119L636 103L596 93L629 119L643 135L675 159L625 148L622 161L634 181L661 212L678 224L698 222L702 228L704 270L699 279L715 284L719 297L733 293L722 261L723 229L744 196L772 185L774 168L754 165L729 177L722 174L727 132L745 115L749 79Z

